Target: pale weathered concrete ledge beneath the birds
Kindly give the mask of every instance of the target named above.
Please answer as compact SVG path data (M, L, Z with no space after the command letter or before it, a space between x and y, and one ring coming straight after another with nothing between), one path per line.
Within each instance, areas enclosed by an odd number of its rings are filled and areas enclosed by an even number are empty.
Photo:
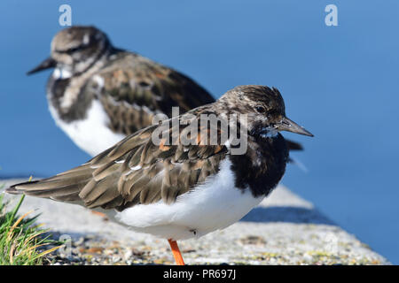
M57 237L72 237L72 256L59 257L58 264L173 263L167 241L129 231L80 206L26 197L20 212L28 210L41 213L39 222ZM283 186L233 226L179 246L186 264L389 264Z

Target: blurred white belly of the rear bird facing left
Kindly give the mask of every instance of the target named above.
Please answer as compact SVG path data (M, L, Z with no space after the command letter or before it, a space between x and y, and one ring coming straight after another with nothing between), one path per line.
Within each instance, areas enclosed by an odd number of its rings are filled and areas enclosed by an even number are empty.
M91 102L86 119L70 123L59 119L57 111L51 105L49 108L56 124L79 148L92 157L112 147L125 137L124 134L115 134L108 128L109 118L101 103L96 99Z

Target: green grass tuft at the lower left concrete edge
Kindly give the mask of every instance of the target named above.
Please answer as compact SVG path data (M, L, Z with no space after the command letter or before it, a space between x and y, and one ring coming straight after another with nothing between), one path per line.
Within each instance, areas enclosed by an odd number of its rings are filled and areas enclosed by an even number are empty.
M0 265L40 265L47 260L46 256L61 247L58 241L50 240L50 236L43 237L48 230L35 225L38 216L28 218L33 211L18 216L24 197L7 211L9 203L5 203L4 194L0 194ZM45 249L50 244L58 246Z

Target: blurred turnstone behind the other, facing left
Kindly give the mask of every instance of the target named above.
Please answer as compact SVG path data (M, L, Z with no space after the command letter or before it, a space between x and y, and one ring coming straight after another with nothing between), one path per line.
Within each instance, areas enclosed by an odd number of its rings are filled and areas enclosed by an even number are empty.
M154 115L170 118L174 106L184 113L215 102L183 73L113 47L97 27L60 30L51 41L51 56L27 74L46 69L54 69L46 91L52 118L91 157L151 126Z

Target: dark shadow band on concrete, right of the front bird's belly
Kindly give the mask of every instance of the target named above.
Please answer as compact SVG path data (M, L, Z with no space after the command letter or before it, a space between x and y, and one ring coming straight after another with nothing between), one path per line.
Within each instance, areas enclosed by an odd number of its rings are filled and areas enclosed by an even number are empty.
M294 206L256 207L240 221L335 225L332 220L316 209L309 210Z

